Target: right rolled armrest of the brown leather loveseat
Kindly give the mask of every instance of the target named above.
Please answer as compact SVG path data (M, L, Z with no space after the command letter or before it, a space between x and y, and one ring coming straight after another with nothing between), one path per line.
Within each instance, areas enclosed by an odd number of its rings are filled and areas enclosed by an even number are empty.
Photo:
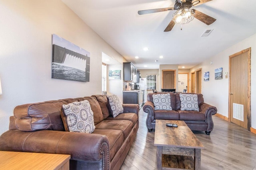
M205 114L205 121L208 124L207 131L212 131L213 129L212 115L215 115L217 113L217 108L215 106L202 102L199 105L199 111Z

